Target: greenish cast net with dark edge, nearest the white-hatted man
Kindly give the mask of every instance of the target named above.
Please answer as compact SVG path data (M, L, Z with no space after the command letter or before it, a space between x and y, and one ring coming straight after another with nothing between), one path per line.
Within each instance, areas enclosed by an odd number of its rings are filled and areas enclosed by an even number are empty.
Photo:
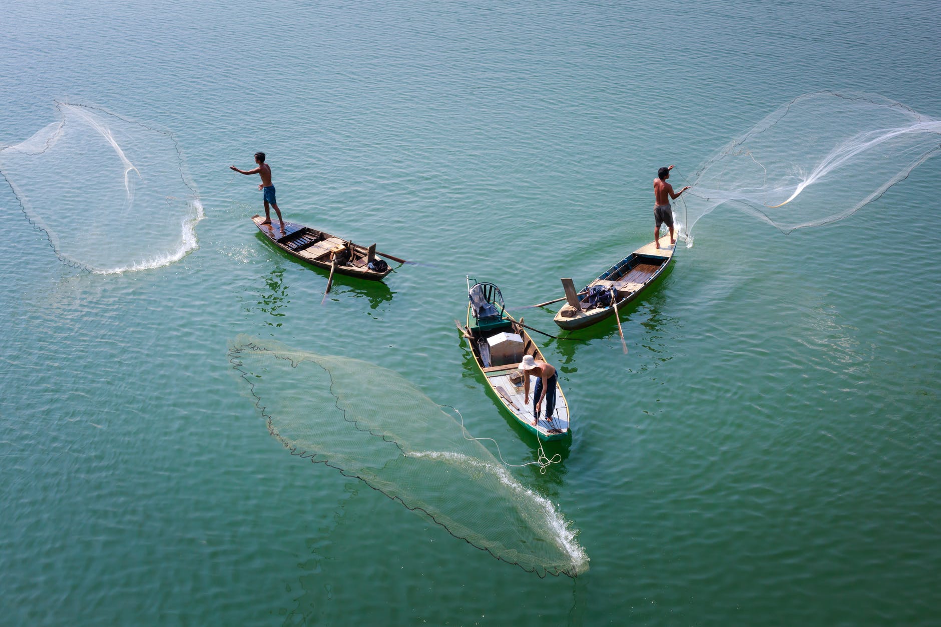
M555 506L405 378L245 335L229 348L233 372L292 455L357 477L526 571L574 577L587 570Z

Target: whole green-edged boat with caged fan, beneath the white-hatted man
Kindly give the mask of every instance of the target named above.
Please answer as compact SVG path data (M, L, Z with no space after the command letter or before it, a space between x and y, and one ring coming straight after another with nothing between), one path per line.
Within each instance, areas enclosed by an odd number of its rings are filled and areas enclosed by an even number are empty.
M490 390L518 420L519 424L536 434L540 440L561 440L571 435L566 395L558 383L555 386L555 409L551 416L542 412L534 425L533 394L538 377L519 370L523 355L532 355L545 362L542 351L535 345L522 326L503 308L503 297L493 283L468 280L467 323L461 329L470 345L474 362L486 379ZM460 325L458 324L458 328ZM523 401L523 377L530 378L530 400ZM543 401L543 409L546 402Z

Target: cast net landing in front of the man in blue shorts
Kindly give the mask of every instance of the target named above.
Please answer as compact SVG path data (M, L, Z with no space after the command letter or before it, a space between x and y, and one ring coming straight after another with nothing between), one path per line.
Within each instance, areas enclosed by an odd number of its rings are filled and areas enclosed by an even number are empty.
M59 121L0 150L0 172L59 259L110 273L197 247L202 207L172 135L100 107L56 110Z

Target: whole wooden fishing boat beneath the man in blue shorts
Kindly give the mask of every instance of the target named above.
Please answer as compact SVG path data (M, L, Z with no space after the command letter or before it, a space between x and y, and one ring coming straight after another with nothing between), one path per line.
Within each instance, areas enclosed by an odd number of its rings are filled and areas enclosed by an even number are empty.
M292 257L327 270L336 265L336 272L349 277L382 281L392 268L385 262L376 267L376 256L402 261L376 252L375 244L366 248L296 222L284 222L284 231L281 231L274 223L262 224L264 218L261 216L252 216L251 220L275 246ZM382 265L385 265L385 268L382 268Z

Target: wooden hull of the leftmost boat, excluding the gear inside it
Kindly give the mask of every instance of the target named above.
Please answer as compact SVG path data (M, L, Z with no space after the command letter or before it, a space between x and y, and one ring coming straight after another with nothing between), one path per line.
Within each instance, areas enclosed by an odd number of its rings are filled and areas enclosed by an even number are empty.
M276 226L275 223L262 224L263 220L264 218L261 216L251 218L258 230L272 244L295 257L295 259L299 259L306 264L322 267L325 270L329 270L331 266L330 250L345 243L345 240L336 235L317 231L296 222L284 222L284 231L282 233L280 227ZM357 261L362 261L368 254L369 249L365 247L353 243L350 246ZM383 272L376 272L369 269L367 265L337 265L336 270L334 270L337 274L357 277L367 281L382 281L389 276L391 271L392 268L390 267Z

